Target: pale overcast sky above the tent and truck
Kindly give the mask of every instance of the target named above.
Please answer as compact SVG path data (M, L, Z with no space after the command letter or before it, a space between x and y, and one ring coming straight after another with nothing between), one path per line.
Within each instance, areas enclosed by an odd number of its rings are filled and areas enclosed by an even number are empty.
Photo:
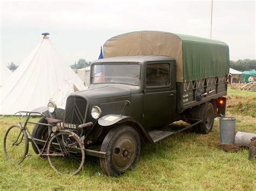
M255 1L213 2L212 38L230 46L231 60L255 59ZM211 1L2 1L1 64L19 65L42 32L65 64L98 58L116 35L157 30L210 37Z

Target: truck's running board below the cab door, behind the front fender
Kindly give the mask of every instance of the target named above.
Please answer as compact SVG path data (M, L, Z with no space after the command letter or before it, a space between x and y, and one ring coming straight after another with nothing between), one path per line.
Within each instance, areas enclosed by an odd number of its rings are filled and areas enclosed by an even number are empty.
M148 133L149 133L151 139L153 140L154 144L156 144L157 142L159 142L161 140L164 140L164 139L170 137L173 134L180 133L181 131L185 131L186 129L191 128L191 127L199 124L200 122L203 122L203 120L198 120L198 119L188 119L188 120L196 121L196 122L194 122L194 124L192 124L190 126L182 128L178 131L172 131L171 129L170 129L170 131L163 131L163 130L154 129L152 131L149 131Z

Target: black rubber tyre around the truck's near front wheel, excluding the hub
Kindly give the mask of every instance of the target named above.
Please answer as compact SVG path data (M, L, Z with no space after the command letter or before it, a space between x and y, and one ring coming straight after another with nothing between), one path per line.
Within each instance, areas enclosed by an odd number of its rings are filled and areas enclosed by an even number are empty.
M136 151L132 159L131 165L125 170L118 170L113 166L112 163L112 154L114 151L114 146L116 143L121 140L122 136L129 135L135 141ZM119 176L126 172L127 170L133 169L136 166L136 163L139 159L140 154L140 139L136 130L130 126L120 126L111 129L107 133L106 137L103 140L102 146L100 147L100 152L106 152L106 158L100 158L100 167L102 167L103 173L110 176Z

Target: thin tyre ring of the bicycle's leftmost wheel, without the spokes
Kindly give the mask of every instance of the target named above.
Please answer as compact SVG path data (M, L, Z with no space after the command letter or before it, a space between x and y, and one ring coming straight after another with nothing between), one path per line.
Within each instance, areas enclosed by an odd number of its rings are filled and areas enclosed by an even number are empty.
M12 161L12 160L9 158L8 153L6 152L6 138L7 138L7 136L8 136L9 131L10 131L11 128L13 128L13 127L21 128L21 127L19 127L19 126L17 126L17 125L12 125L12 126L10 126L10 127L7 129L7 131L6 131L5 135L4 135L3 148L4 148L4 154L5 154L5 156L6 156L6 159L7 159L9 162L11 162L11 163L15 163L16 165L19 165L19 164L22 163L22 161L26 158L26 154L28 154L28 152L29 152L29 139L28 139L28 135L26 134L25 130L22 130L23 135L24 135L23 139L25 139L24 154L23 154L21 160L19 160L18 162Z

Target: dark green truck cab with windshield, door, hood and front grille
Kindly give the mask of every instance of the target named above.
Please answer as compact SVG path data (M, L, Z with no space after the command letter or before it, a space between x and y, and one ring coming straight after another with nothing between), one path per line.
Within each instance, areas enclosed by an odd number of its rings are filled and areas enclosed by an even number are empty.
M176 63L165 56L127 56L100 59L91 65L88 90L67 99L65 121L81 123L91 117L93 106L106 114L120 114L124 101L130 101L123 115L136 118L144 127L170 124L176 119ZM78 97L81 103L70 107ZM82 104L82 100L84 103ZM77 111L77 112L73 112ZM85 116L86 115L86 116ZM82 117L84 116L84 117Z

